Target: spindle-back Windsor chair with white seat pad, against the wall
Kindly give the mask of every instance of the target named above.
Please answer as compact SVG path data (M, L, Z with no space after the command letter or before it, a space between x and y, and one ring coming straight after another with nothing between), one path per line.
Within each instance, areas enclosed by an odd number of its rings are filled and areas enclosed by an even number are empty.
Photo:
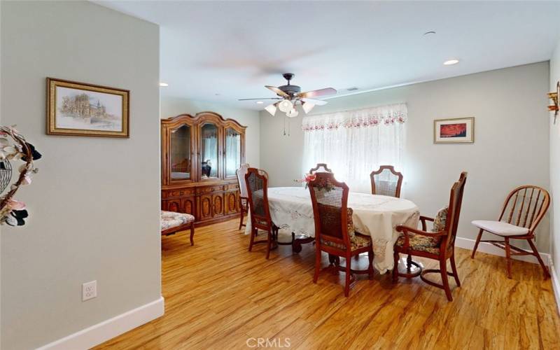
M505 250L508 279L512 278L512 255L534 255L542 267L545 279L548 279L550 273L545 263L542 262L542 258L540 258L540 254L533 243L533 238L535 238L535 229L542 220L542 217L545 216L549 205L550 195L544 188L527 185L519 186L512 190L505 198L498 221L472 221L472 225L475 225L480 230L470 258L475 258L475 253L481 241L487 242ZM505 216L506 211L507 217ZM503 241L482 240L482 233L484 231L502 237ZM531 251L512 246L510 244L511 239L526 240L529 246L531 246Z

